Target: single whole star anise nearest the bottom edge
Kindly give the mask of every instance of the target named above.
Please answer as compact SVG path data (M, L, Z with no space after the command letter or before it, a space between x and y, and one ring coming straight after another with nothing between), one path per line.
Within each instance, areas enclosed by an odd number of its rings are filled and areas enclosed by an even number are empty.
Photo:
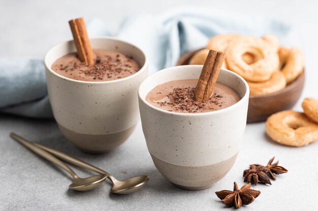
M221 190L215 192L217 197L221 199L221 202L227 206L235 206L240 208L242 204L250 204L257 198L261 191L250 189L250 183L245 184L238 189L236 182L234 182L234 190Z

